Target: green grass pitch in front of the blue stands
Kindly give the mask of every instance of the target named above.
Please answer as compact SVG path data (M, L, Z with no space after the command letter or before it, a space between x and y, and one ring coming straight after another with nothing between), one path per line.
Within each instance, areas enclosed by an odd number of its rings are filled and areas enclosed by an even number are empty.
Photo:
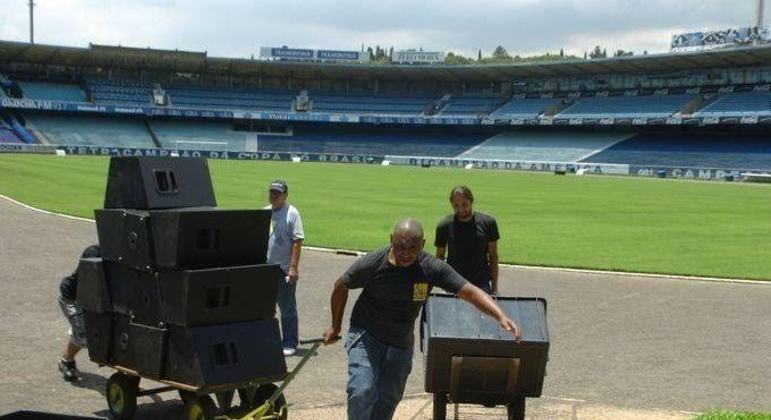
M106 157L0 155L0 194L93 218ZM210 161L224 208L258 208L282 177L307 245L370 250L416 217L433 252L452 186L495 215L507 263L771 280L771 186L366 165Z

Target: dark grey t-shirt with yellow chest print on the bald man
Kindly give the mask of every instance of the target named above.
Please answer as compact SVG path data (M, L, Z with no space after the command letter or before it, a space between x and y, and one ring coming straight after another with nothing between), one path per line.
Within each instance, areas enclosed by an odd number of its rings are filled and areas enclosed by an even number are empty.
M351 326L367 330L383 343L409 348L415 341L415 319L431 288L456 294L467 282L449 264L425 251L409 267L392 265L389 249L359 258L342 276L345 287L362 289Z

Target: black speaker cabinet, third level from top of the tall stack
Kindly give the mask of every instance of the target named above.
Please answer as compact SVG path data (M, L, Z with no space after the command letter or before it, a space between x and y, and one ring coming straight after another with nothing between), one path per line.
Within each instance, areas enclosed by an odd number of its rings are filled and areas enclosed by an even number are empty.
M115 312L135 323L201 326L270 319L281 269L275 264L147 273L104 261Z

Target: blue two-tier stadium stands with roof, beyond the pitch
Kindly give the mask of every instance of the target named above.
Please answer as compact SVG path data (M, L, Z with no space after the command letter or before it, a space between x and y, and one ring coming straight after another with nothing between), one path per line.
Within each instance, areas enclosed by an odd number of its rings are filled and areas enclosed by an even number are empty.
M0 42L0 86L0 151L702 179L771 170L771 45L388 66Z

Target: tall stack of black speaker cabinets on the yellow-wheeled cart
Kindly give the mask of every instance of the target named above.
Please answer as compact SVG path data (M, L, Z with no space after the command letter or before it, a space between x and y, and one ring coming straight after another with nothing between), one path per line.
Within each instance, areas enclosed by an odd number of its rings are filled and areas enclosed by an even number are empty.
M102 258L78 268L91 360L196 387L286 376L270 210L215 206L203 159L112 158Z

